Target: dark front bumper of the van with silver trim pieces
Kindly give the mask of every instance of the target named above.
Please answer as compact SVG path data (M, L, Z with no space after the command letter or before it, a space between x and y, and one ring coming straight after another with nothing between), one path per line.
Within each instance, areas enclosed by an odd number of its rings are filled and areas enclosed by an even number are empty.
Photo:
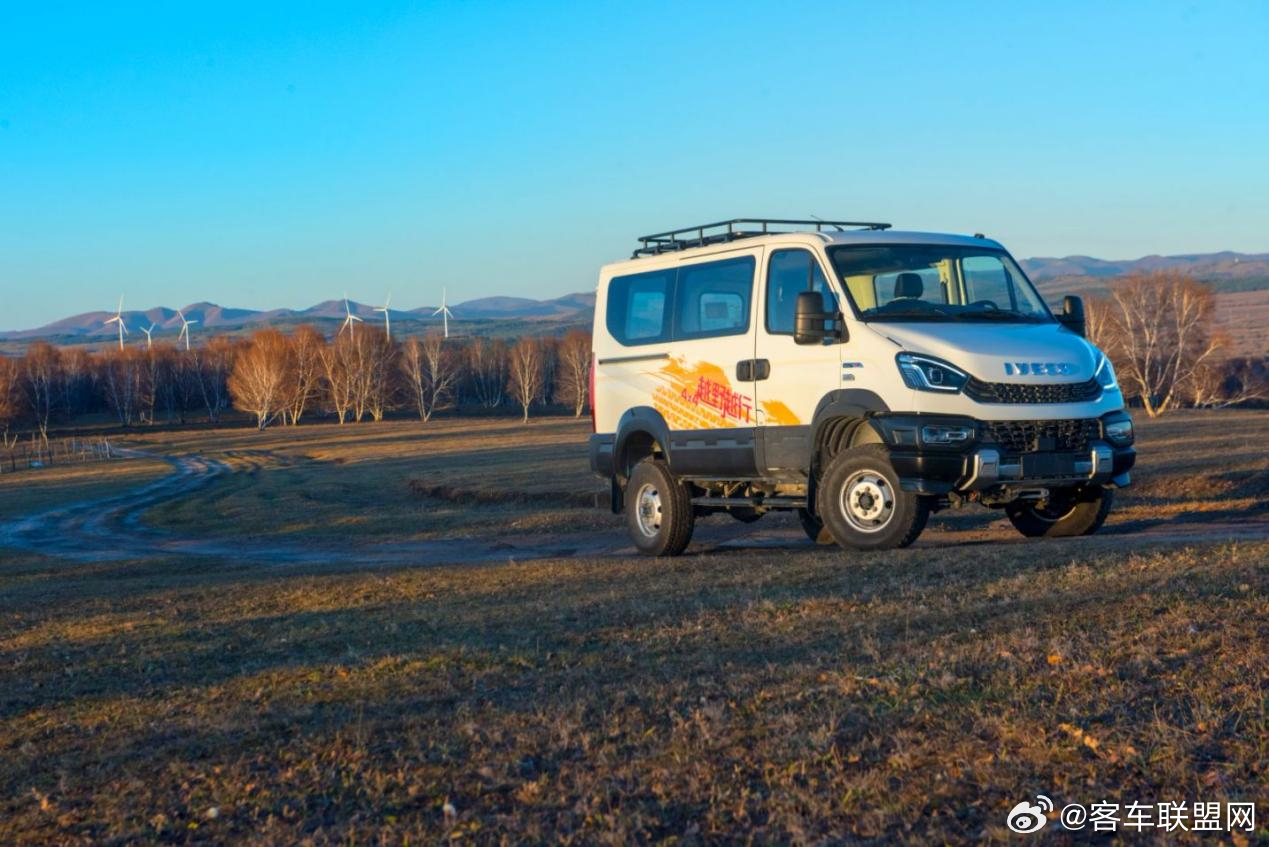
M1070 422L1086 424L1089 437L1075 446L1037 439L1032 450L992 441L990 422L879 415L873 418L873 424L890 447L891 464L905 490L949 494L1006 485L1129 485L1128 471L1137 461L1136 450L1131 442L1114 444L1104 437L1105 424L1122 417L1124 413L1112 413L1100 419ZM925 446L919 433L931 423L973 425L976 437L961 446Z

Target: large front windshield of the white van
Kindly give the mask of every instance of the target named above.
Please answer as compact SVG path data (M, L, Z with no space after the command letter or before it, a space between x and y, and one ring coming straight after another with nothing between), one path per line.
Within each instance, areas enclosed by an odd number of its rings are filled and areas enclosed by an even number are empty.
M844 245L830 249L829 255L863 320L1053 320L1018 264L1000 250Z

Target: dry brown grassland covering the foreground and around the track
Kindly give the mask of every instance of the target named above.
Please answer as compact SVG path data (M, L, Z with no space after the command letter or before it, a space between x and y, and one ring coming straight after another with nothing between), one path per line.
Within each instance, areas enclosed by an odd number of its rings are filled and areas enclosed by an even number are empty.
M0 550L0 843L1004 842L1037 792L1258 800L1264 839L1269 541L1140 531L1263 519L1266 422L1143 424L1140 486L1086 540L1001 544L982 512L867 555L327 571ZM586 430L136 444L240 471L152 509L174 532L618 532L552 500L602 490ZM508 489L530 497L487 494ZM0 514L22 502L0 481Z

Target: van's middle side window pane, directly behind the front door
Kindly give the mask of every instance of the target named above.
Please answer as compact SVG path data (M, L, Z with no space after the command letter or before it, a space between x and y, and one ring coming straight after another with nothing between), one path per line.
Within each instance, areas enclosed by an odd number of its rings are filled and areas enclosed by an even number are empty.
M674 338L712 338L749 331L754 267L753 257L680 267Z

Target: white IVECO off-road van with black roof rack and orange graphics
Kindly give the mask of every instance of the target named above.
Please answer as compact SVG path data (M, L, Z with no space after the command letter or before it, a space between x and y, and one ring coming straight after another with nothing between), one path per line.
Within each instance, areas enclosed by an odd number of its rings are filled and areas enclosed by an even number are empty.
M991 239L741 218L640 243L599 276L590 464L646 554L772 509L862 550L966 504L1085 535L1128 484L1082 302L1055 316Z

